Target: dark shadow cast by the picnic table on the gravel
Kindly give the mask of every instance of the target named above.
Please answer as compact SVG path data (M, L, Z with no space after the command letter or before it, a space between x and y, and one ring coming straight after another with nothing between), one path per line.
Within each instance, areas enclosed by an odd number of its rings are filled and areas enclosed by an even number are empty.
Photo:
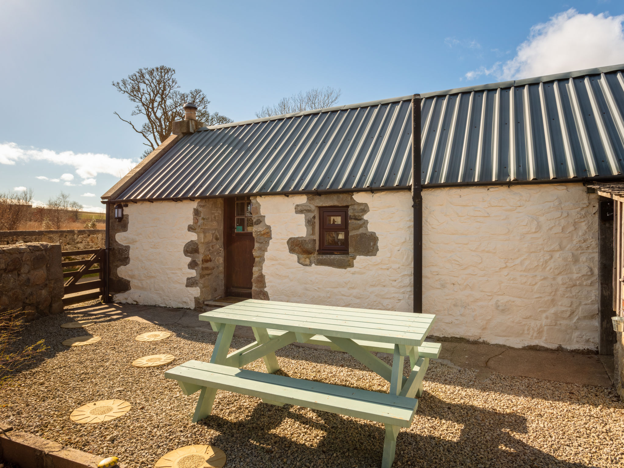
M218 403L215 403L217 405ZM228 455L228 465L293 467L378 467L383 453L384 429L362 424L333 413L314 411L314 421L283 407L258 404L250 417L230 422L208 416L199 424L220 432L213 444ZM527 421L513 413L499 413L467 404L449 404L425 392L418 409L421 416L440 417L462 424L456 441L417 434L418 427L401 431L394 466L416 467L552 467L581 468L587 465L562 462L516 439L527 433ZM299 429L297 429L297 427ZM293 431L324 432L311 447L291 441Z

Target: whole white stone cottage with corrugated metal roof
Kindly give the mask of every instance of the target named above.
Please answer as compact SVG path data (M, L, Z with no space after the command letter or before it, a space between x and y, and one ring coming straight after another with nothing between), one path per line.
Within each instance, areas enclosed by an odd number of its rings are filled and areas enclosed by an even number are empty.
M599 298L613 280L600 275L599 234L613 222L601 222L586 185L624 178L622 71L214 127L187 105L173 134L102 196L109 293L198 309L238 296L412 311L419 105L417 281L434 334L597 349L600 316L613 314Z

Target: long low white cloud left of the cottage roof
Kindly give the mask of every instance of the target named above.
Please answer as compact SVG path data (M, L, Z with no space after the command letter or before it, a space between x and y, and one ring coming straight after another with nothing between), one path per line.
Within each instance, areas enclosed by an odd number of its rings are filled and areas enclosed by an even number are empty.
M90 180L94 180L93 178L99 173L123 177L134 167L134 163L130 159L114 158L107 154L74 153L73 151L57 153L52 150L39 150L32 147L22 148L15 143L0 144L0 164L14 165L17 161L27 162L29 160L69 165L76 169L79 177ZM63 174L63 176L67 175L71 174ZM39 176L39 178L41 177L43 176Z

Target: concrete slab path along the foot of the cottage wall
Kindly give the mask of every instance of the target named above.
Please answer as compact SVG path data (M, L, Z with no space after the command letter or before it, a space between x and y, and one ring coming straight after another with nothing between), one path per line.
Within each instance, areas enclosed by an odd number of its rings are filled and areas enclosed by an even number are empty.
M215 333L210 328L210 323L198 319L198 312L188 309L97 303L69 306L66 307L66 311L109 316L112 319L145 321L161 326L177 324L205 333ZM235 336L253 338L253 333L249 327L237 326ZM439 361L459 368L477 369L477 379L486 380L492 372L497 372L508 376L532 377L579 385L612 386L607 372L612 360L605 356L509 348L500 344L436 341L442 343ZM299 346L326 348L314 344Z

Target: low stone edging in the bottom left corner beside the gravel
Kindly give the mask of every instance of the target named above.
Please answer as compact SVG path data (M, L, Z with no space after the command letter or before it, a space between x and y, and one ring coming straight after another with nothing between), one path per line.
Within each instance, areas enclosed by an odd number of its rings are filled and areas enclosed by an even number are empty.
M13 431L11 426L0 422L1 460L20 468L97 468L102 457L27 432ZM120 463L119 467L124 468L125 464Z

